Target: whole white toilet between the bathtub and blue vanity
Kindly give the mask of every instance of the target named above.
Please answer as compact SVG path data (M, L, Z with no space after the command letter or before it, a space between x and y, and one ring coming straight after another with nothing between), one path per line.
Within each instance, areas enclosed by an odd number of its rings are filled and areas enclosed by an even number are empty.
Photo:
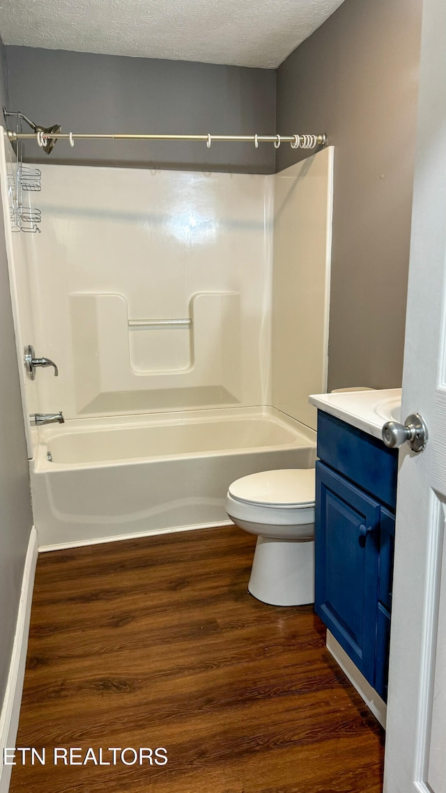
M229 485L229 518L258 534L248 583L257 600L314 602L314 499L314 469L262 471Z

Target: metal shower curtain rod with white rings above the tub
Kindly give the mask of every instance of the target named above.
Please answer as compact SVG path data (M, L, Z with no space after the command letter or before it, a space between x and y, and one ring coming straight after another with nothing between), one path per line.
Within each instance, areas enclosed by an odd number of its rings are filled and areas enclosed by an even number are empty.
M326 135L136 135L122 132L13 132L6 131L9 140L37 140L40 146L51 140L68 140L74 146L75 140L201 140L208 148L214 141L240 141L241 143L258 144L272 143L276 148L280 144L289 143L293 148L310 149L327 144Z

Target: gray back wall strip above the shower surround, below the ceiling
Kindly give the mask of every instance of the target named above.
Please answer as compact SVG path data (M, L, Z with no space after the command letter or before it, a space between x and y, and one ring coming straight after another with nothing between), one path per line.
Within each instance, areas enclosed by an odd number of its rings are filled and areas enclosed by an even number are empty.
M274 134L275 71L6 47L10 109L64 132ZM38 157L40 155L40 159ZM37 144L28 158L44 162ZM273 173L271 144L58 143L48 162Z

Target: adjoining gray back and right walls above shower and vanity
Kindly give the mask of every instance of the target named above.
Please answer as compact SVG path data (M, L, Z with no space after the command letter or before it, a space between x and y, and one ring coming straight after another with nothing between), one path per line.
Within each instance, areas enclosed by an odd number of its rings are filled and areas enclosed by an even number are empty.
M10 109L66 131L327 132L329 388L401 385L422 0L344 0L277 71L7 47ZM37 81L29 75L39 75ZM263 144L59 143L49 159L271 173ZM277 170L302 159L282 146Z

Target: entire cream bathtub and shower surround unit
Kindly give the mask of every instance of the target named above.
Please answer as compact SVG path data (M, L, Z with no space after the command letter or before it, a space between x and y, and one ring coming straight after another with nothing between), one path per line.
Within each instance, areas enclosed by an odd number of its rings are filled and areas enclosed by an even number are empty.
M233 479L313 465L333 150L276 176L39 167L41 233L5 226L40 547L221 525ZM26 377L28 344L59 377Z

